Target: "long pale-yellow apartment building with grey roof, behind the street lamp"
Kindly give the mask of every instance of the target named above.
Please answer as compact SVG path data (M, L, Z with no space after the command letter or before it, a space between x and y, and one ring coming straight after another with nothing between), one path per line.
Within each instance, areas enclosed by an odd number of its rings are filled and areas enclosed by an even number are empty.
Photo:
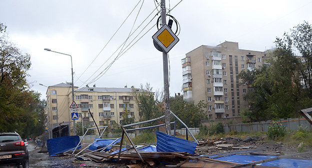
M76 122L94 125L88 110L98 126L120 123L124 109L129 117L139 119L137 105L133 99L132 88L116 87L74 87L74 101L78 106ZM136 89L136 88L135 88ZM138 90L138 89L137 89ZM48 123L71 121L69 106L72 102L71 83L59 83L48 86L46 91L48 107ZM58 115L58 119L57 118ZM72 129L72 124L71 124Z

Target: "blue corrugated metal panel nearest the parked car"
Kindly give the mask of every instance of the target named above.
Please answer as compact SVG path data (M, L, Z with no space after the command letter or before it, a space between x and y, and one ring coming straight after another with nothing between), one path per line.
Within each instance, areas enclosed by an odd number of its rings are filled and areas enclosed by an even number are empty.
M79 143L79 136L62 136L46 140L47 151L49 155L58 154L74 148ZM81 148L81 147L78 147Z

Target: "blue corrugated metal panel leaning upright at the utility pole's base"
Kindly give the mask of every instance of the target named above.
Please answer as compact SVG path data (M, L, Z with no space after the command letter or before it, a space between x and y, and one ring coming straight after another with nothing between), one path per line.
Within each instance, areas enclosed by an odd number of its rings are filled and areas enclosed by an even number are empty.
M194 154L196 142L181 139L165 133L156 132L157 135L157 151L186 151Z

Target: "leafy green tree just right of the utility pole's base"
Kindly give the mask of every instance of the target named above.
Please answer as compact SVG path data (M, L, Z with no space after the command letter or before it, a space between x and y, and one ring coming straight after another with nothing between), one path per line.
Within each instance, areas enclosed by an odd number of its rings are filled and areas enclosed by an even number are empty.
M171 111L178 116L188 127L199 127L200 121L207 119L207 114L204 108L207 107L206 103L202 101L198 104L189 103L183 100L183 96L177 95L169 98ZM171 118L174 121L175 118ZM177 128L184 127L180 122L177 122Z

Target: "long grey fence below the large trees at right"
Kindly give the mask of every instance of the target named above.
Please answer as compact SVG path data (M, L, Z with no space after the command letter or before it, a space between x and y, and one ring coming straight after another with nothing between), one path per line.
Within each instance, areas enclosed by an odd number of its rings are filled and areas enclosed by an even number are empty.
M224 124L223 130L225 133L236 132L267 132L267 127L273 123L281 123L287 130L297 130L299 125L307 127L312 130L312 125L305 118L287 118L279 120L267 120L259 122L237 123L237 124Z

